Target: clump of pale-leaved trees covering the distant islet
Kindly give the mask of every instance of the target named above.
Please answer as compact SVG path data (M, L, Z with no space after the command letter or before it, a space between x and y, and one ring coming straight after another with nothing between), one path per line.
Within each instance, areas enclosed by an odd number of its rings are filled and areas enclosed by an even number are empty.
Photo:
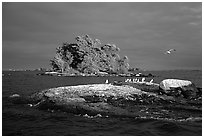
M102 45L89 35L77 36L76 43L63 43L50 61L53 71L70 74L128 73L128 57L120 58L114 44Z

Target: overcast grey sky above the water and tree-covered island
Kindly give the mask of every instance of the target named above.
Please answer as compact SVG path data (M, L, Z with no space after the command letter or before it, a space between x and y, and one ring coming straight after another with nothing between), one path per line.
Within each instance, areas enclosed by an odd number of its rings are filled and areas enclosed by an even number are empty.
M131 67L202 69L201 2L3 2L2 69L48 68L56 47L85 34Z

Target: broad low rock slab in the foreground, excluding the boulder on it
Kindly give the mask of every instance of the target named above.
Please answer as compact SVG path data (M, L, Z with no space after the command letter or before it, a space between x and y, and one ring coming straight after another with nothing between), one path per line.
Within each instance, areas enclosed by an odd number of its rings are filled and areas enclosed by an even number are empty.
M62 110L83 115L160 119L202 116L201 100L192 102L145 92L128 85L93 84L58 87L35 93L30 98L32 105L39 109Z

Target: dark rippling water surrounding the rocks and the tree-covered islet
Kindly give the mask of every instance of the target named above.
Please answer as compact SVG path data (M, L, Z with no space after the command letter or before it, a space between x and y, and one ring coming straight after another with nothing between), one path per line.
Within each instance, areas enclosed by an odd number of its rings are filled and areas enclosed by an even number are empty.
M126 77L54 77L38 76L38 72L3 72L2 133L3 135L202 135L202 121L168 121L107 116L74 115L61 111L43 111L8 100L12 94L29 96L47 88L80 84L104 83ZM202 87L201 71L152 71L155 82L165 78L187 79ZM148 78L149 80L151 78ZM147 79L147 80L148 80Z

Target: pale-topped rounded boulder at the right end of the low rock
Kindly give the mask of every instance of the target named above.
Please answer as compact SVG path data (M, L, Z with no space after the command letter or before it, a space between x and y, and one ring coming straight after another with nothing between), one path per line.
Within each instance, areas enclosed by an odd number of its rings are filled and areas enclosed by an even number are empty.
M165 79L159 87L167 95L183 96L184 98L195 98L198 89L188 80Z

